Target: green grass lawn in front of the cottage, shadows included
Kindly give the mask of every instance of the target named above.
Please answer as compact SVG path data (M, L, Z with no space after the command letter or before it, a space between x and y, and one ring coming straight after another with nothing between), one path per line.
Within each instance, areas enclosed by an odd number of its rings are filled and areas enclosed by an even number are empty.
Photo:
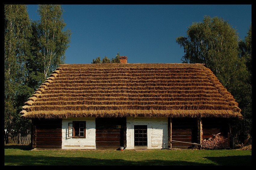
M5 145L5 165L251 165L251 150L31 150Z

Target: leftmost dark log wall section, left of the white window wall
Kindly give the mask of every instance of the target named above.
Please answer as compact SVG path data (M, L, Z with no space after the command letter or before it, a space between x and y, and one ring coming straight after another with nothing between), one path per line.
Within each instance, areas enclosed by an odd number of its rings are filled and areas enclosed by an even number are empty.
M32 119L33 147L61 149L62 119Z

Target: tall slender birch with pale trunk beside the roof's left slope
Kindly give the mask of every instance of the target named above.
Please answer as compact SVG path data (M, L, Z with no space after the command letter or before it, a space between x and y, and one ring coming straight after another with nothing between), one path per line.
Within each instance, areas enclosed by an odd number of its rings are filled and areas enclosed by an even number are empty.
M54 71L58 64L63 64L65 51L69 47L71 31L64 31L66 26L61 5L39 5L38 36L45 79Z

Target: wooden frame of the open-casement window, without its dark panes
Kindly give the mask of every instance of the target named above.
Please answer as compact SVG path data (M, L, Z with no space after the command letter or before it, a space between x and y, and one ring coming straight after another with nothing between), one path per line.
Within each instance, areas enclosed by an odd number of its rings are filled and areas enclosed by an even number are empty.
M83 127L80 127L80 124L83 123ZM72 125L71 125L72 124ZM78 129L75 126L79 124ZM83 128L83 131L81 131L81 128ZM80 133L83 132L83 136L80 136ZM78 136L75 134L78 133ZM68 123L68 137L72 138L86 138L86 121L73 121Z

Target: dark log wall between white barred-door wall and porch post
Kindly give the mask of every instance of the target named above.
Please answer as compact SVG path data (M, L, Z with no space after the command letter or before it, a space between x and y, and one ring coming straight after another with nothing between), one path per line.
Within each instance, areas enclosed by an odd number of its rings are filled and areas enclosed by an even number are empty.
M196 118L171 118L171 147L172 148L189 148L192 144L197 143L197 119ZM180 142L176 142L180 141Z

